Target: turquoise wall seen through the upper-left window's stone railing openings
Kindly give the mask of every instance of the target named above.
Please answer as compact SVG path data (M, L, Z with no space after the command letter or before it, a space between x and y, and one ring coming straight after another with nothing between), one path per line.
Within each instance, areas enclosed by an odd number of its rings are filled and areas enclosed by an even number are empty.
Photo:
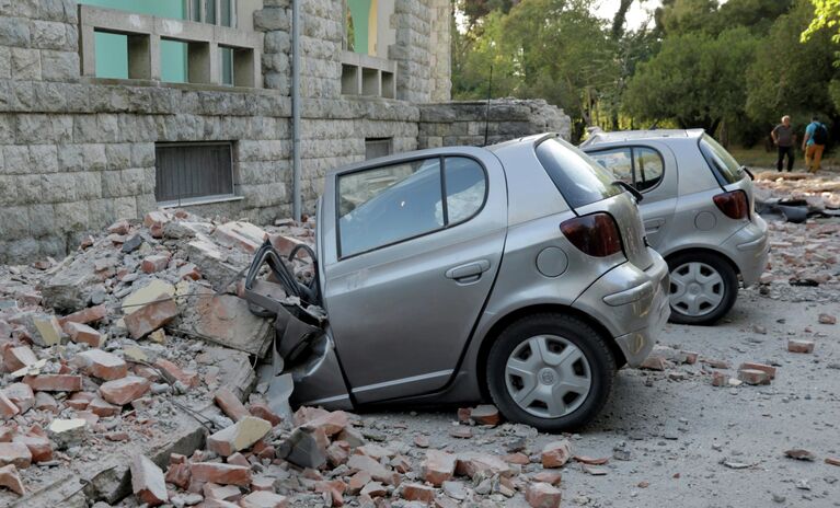
M185 4L181 0L80 0L79 3L147 15L186 19ZM185 83L186 61L185 44L161 41L163 81ZM128 78L128 41L125 35L96 33L96 77Z

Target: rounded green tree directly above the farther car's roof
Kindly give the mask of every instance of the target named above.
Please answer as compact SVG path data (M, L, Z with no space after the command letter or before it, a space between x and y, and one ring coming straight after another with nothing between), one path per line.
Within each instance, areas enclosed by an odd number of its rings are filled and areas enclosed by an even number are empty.
M744 27L717 37L705 32L666 37L661 50L630 80L625 112L640 120L672 120L715 132L722 122L744 114L743 74L757 44Z

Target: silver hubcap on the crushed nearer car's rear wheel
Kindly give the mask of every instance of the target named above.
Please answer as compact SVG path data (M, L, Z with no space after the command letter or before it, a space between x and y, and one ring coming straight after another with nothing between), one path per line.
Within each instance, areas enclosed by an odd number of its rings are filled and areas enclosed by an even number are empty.
M505 384L514 402L540 418L557 418L577 409L591 382L584 351L556 335L522 342L505 366Z

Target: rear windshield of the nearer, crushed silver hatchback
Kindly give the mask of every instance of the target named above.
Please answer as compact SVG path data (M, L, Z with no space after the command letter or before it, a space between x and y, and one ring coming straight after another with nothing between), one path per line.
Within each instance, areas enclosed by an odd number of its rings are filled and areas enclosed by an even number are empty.
M580 150L556 138L537 146L537 159L568 206L579 208L622 193L607 170Z

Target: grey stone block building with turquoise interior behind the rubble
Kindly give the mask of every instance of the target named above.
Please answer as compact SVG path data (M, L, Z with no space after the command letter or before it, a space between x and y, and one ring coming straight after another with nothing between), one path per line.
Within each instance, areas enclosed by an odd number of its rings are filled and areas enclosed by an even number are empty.
M301 0L301 195L366 157L483 142L450 103L449 0ZM290 0L0 0L0 262L160 206L269 222L291 196ZM568 131L497 101L491 141Z

